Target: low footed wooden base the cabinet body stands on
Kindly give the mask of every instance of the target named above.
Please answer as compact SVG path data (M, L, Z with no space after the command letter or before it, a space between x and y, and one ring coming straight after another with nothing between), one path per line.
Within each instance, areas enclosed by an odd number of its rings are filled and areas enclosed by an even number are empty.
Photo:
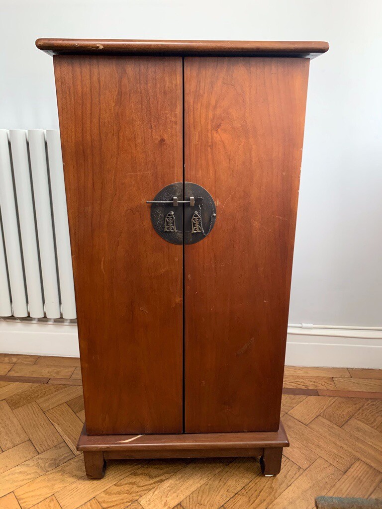
M103 477L106 460L155 458L257 457L263 474L276 475L283 447L289 441L281 421L278 431L179 435L88 435L84 426L77 444L92 479Z

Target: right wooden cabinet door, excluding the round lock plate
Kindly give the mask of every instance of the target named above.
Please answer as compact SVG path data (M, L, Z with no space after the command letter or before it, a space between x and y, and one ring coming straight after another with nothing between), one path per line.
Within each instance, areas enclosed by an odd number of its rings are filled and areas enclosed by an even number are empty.
M185 432L279 427L308 69L184 60L185 180L216 204L185 246Z

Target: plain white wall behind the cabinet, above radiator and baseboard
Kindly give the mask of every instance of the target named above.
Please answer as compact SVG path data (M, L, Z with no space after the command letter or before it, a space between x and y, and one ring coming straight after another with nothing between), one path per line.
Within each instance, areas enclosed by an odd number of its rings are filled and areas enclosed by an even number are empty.
M0 0L0 128L57 129L38 37L326 40L311 64L289 322L382 325L380 0Z

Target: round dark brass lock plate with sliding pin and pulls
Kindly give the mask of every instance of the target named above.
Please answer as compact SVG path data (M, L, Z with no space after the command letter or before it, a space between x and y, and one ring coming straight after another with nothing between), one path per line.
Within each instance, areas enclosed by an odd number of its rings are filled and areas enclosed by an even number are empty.
M174 196L178 205L174 206ZM190 200L190 198L194 198ZM216 221L216 207L210 193L193 182L174 182L163 187L151 204L151 222L162 239L172 244L195 244L211 232ZM165 202L165 203L163 203ZM170 203L166 203L170 202ZM186 202L186 203L180 203Z

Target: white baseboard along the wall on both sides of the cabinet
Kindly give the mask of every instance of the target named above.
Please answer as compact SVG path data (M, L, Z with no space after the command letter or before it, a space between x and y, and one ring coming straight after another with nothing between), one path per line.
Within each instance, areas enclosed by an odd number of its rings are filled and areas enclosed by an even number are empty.
M0 322L0 352L78 357L75 325ZM382 368L382 331L288 329L292 366Z

